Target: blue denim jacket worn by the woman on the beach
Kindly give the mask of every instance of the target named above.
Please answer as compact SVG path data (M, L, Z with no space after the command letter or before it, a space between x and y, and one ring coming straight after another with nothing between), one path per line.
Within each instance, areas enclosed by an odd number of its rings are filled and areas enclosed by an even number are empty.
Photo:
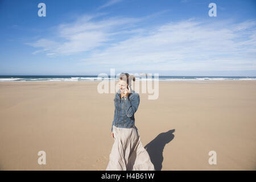
M135 124L134 114L139 107L139 94L130 89L129 95L121 98L121 90L119 89L115 93L114 106L115 113L111 131L113 131L113 125L122 128L133 127Z

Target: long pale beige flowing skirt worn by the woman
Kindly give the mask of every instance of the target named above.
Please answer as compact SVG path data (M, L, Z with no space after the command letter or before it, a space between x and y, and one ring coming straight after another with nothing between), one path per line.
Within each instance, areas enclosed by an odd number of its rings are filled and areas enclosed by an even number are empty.
M106 171L155 171L136 126L130 129L113 126L113 134Z

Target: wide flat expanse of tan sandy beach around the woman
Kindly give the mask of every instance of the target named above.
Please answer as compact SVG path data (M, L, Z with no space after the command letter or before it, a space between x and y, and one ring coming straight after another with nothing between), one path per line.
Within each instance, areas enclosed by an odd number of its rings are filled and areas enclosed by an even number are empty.
M0 82L1 170L105 170L114 93L98 82ZM160 81L135 125L158 170L255 170L256 81ZM46 165L38 164L46 152ZM209 151L217 164L210 165Z

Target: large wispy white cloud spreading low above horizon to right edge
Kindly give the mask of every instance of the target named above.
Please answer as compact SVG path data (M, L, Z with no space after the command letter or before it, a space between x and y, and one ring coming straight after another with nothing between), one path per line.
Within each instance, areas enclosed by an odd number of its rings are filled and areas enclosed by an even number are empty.
M167 23L97 51L83 64L162 71L255 69L255 25L214 27L193 19Z

